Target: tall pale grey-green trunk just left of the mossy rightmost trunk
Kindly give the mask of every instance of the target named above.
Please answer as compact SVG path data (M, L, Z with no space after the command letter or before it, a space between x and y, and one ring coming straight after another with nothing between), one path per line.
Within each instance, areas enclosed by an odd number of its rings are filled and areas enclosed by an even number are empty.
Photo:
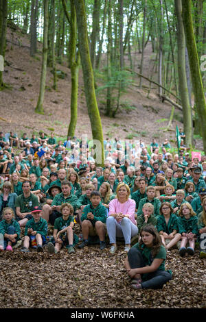
M175 0L176 9L176 36L177 36L177 59L179 73L179 89L181 95L181 103L183 106L183 123L185 132L185 145L192 147L192 117L191 106L187 90L187 76L185 71L185 32L182 20L182 3L181 0Z

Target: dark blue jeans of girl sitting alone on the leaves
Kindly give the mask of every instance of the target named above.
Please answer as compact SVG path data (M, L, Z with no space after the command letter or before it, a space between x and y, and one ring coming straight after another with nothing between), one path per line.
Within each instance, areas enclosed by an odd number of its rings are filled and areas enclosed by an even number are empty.
M141 252L135 247L128 251L128 262L131 269L146 266L146 262L144 261ZM163 284L170 280L172 280L172 275L169 272L163 271L162 269L157 269L155 272L148 273L147 280L145 282L141 282L141 287L153 288L155 290L157 288L162 288Z

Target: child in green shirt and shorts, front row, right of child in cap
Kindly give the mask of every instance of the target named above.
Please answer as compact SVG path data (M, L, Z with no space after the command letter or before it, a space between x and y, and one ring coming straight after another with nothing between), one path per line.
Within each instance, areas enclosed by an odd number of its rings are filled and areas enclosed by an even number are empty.
M62 216L58 217L54 222L53 239L48 243L48 251L49 253L58 253L66 245L68 253L75 253L73 246L78 243L78 236L73 234L73 207L70 203L62 203L60 212Z

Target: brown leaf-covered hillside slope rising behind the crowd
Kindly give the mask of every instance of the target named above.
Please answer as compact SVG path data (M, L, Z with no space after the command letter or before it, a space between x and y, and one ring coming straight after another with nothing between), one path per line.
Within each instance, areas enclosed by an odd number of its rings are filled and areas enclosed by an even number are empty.
M45 91L44 109L45 114L40 115L34 112L38 100L40 75L41 75L41 44L38 43L38 53L35 58L30 57L29 36L22 34L20 29L14 32L8 28L7 47L5 60L9 64L5 66L3 73L4 82L10 84L10 90L0 93L1 130L9 132L11 129L19 136L26 132L31 136L33 132L45 131L48 135L54 131L57 137L67 136L67 128L70 121L70 93L71 73L67 67L67 60L64 64L57 65L57 69L66 73L65 79L58 79L58 90L52 89L51 69L47 69L47 90ZM140 54L137 54L137 65L140 62ZM150 44L146 47L146 59L144 75L150 75L152 51ZM136 66L136 71L138 66ZM80 84L78 95L78 123L76 136L87 134L91 138L91 125L87 114L87 105L84 98L84 84L82 71L80 70ZM139 79L135 79L139 84ZM148 86L147 81L143 84ZM134 139L142 137L145 143L150 143L155 134L159 143L165 137L174 140L175 132L162 132L162 128L168 125L171 107L169 103L162 103L157 96L157 88L147 98L147 90L139 90L133 87L122 99L129 106L135 107L132 110L121 110L115 119L104 116L102 102L99 103L100 114L104 137L119 136L125 139L135 134ZM181 111L176 110L181 119ZM174 120L175 126L182 124Z

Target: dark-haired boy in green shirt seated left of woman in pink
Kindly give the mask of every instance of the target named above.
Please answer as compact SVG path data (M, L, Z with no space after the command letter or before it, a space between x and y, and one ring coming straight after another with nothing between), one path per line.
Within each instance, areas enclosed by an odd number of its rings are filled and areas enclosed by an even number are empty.
M102 205L99 191L93 191L90 196L89 205L84 207L82 221L83 242L78 248L88 245L88 237L98 235L100 238L100 249L106 248L105 232L106 232L106 207Z

